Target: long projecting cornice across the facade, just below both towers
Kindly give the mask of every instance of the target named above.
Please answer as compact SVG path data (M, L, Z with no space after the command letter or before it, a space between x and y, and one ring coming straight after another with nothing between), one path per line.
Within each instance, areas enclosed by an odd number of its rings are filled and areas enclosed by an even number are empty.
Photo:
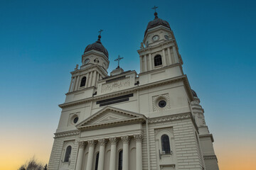
M75 106L75 105L78 105L78 104L81 104L81 103L87 103L89 101L99 100L99 99L103 99L103 98L109 98L109 97L112 97L112 96L113 97L118 96L120 94L129 94L129 93L134 92L134 91L139 91L139 90L142 90L142 89L148 89L150 87L159 86L159 85L163 85L163 84L169 84L169 83L175 82L175 81L183 81L183 83L186 87L186 91L188 93L188 97L191 99L191 101L193 101L193 95L192 95L190 86L188 84L188 79L187 79L186 74L185 74L185 75L182 75L182 76L179 76L179 77L174 77L174 78L165 79L165 80L161 80L161 81L157 81L157 82L152 82L152 83L149 83L149 84L144 84L142 86L134 86L134 87L129 88L129 89L124 89L122 91L114 91L110 94L103 94L103 95L100 95L100 96L92 96L90 98L85 98L85 99L81 99L81 100L78 100L78 101L63 103L63 104L60 104L59 107L60 108L66 108L66 107Z

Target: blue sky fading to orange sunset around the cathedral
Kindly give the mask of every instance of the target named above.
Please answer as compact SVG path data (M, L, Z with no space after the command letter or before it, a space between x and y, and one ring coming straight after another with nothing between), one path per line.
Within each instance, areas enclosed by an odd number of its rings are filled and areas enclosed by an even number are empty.
M139 73L147 23L169 22L183 71L201 99L221 170L256 169L255 1L0 1L0 169L35 156L48 164L53 133L85 47L97 40Z

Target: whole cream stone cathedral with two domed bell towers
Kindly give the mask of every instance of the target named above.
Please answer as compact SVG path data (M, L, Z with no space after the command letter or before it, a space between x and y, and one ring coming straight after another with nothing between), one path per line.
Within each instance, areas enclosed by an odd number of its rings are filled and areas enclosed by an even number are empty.
M101 35L87 45L59 105L49 170L218 170L200 99L156 12L137 52L139 74L119 64L108 74Z

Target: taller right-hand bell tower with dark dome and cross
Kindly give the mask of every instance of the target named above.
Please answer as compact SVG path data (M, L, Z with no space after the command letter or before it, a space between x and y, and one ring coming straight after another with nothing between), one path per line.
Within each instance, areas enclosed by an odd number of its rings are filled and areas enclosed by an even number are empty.
M156 8L156 6L153 8L155 10L154 20L148 23L140 50L137 51L140 60L140 76L145 77L145 83L146 79L147 82L154 81L153 72L160 72L164 69L166 75L162 74L163 79L183 74L181 67L183 61L178 52L174 33L169 23L158 17ZM161 78L158 77L157 80L159 79Z

